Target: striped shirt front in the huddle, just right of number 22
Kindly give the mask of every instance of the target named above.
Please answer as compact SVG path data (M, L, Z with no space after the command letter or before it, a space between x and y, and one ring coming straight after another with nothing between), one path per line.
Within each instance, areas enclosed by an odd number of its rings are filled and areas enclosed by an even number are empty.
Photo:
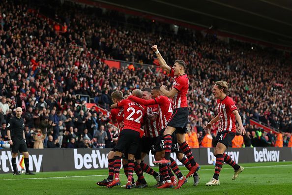
M158 105L149 105L147 106L147 113L149 114L157 114L158 116ZM146 119L144 135L146 137L158 137L159 136L159 117L157 117L156 121L151 121L148 117Z

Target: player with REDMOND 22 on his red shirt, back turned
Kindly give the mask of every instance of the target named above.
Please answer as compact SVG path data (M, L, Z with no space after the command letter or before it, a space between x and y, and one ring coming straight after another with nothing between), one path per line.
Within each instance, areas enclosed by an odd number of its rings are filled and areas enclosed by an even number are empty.
M133 96L142 97L141 90L134 90ZM128 181L126 189L132 188L132 177L134 172L134 156L139 147L140 138L144 131L141 130L143 117L146 114L146 106L138 104L130 99L123 99L111 106L111 108L121 107L124 109L124 127L119 133L116 145L116 154L114 161L115 178L114 181L107 185L108 188L120 185L119 169L121 166L121 156L123 153L128 154Z

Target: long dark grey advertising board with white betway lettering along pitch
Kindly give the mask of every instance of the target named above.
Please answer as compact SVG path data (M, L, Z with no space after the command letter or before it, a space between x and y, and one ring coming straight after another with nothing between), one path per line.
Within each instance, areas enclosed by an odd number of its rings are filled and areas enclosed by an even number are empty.
M29 149L29 170L34 172L67 171L101 169L108 167L106 149ZM195 160L201 165L214 164L215 157L213 148L193 148ZM292 148L257 147L257 148L229 148L229 154L237 163L246 162L279 162L292 161ZM175 153L171 156L178 165L182 165L176 158ZM9 149L0 150L0 173L12 173L12 152ZM16 158L18 170L21 170L19 162L21 155ZM150 166L154 156L146 156L145 162Z

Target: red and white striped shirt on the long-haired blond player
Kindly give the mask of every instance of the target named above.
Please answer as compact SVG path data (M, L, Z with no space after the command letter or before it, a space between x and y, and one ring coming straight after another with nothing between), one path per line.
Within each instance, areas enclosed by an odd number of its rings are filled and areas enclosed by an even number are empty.
M233 99L229 96L226 96L224 99L217 99L217 112L219 114L219 131L229 130L236 132L235 127L235 116L232 113L234 110L237 110L237 107Z

